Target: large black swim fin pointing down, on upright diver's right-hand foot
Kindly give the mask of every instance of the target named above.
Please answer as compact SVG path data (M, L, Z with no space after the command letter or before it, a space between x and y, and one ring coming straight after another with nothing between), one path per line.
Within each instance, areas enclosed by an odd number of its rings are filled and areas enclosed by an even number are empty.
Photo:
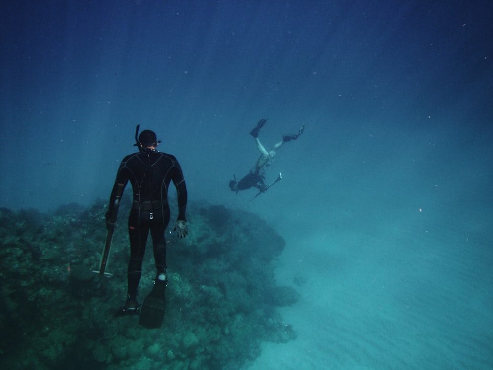
M167 283L168 280L156 279L151 292L140 308L139 325L147 329L161 328L165 307L164 291Z

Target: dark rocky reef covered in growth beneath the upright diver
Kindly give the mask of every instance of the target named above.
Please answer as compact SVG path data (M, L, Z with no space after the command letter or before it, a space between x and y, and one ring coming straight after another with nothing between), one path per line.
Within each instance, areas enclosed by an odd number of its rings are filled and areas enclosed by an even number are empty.
M285 245L258 216L191 203L188 238L167 234L166 313L161 329L136 316L114 318L124 302L130 203L122 202L106 271L97 269L106 205L53 213L0 209L0 363L5 369L238 370L262 341L295 338L278 306L297 301L278 287L273 260ZM172 215L176 215L172 209ZM149 240L143 297L155 267Z

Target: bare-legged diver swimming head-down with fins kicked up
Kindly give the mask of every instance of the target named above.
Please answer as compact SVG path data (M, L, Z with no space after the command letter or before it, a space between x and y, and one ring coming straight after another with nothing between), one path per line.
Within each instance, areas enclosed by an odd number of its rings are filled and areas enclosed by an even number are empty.
M234 176L234 180L231 180L229 182L229 188L231 191L235 191L238 193L240 190L247 190L252 187L256 187L259 192L265 192L269 188L268 185L264 183L265 180L265 170L267 167L269 167L272 163L272 160L274 159L274 156L276 155L277 149L279 149L282 144L287 143L288 141L291 140L296 140L298 137L303 133L303 130L305 128L305 124L303 124L297 134L288 134L284 135L282 137L282 141L280 141L277 144L274 144L274 146L271 148L271 150L267 151L260 140L258 139L258 134L260 133L260 129L265 125L267 122L267 119L261 119L258 121L257 125L253 130L250 131L250 135L255 138L255 142L257 143L257 148L260 151L261 155L257 160L257 163L250 169L250 172L245 175L243 178L240 179L240 181L236 181L236 176ZM279 175L281 178L281 174Z

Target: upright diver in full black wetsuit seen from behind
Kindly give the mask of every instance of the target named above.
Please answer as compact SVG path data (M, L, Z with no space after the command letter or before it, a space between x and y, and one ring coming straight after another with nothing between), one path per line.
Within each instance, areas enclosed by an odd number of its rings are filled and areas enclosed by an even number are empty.
M138 132L139 126L136 129L136 144L134 144L139 148L139 152L127 155L120 164L109 199L109 210L105 215L106 227L108 230L116 227L118 200L130 181L133 203L128 218L130 260L127 270L127 301L117 315L140 315L141 325L160 327L164 314L164 290L167 285L164 233L170 221L168 187L170 182L173 182L178 195L178 217L173 231L177 230L177 236L180 238L188 234L185 218L187 189L176 158L171 154L157 151L156 148L161 140L157 140L156 134L151 130L144 130L137 138ZM157 275L153 291L140 307L137 303L137 290L149 231Z

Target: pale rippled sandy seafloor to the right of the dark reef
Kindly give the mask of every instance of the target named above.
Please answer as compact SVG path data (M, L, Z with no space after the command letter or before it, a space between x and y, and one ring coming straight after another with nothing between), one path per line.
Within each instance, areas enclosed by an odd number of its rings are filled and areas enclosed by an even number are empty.
M467 219L464 204L440 220L387 209L368 224L361 212L377 207L360 204L336 226L286 227L277 277L302 281L300 301L281 309L298 337L265 343L251 370L492 368L488 219Z

